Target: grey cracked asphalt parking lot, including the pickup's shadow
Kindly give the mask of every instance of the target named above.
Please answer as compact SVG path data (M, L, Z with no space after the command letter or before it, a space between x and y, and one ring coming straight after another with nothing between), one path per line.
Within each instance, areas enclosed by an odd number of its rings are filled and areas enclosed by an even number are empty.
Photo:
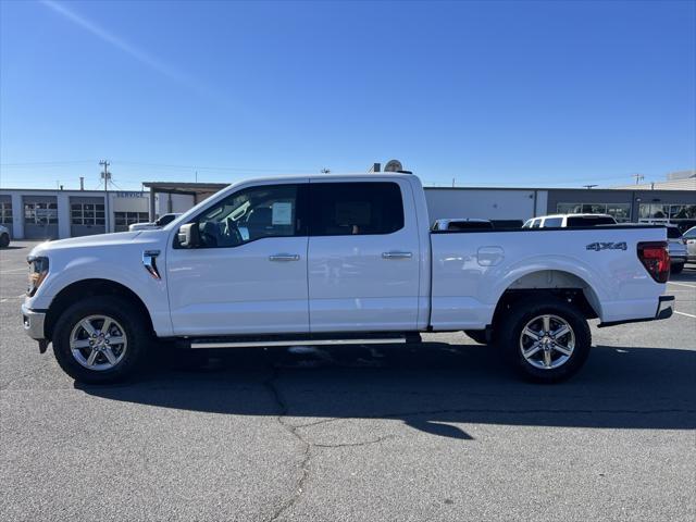
M696 266L667 321L598 330L560 385L462 333L422 345L159 349L82 386L20 304L32 244L0 251L0 519L695 520Z

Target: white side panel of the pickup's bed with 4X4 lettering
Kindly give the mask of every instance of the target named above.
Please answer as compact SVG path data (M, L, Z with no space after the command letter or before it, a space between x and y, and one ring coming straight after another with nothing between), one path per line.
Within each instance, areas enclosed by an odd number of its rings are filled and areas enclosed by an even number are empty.
M601 322L654 318L664 285L637 256L662 226L435 231L431 233L433 330L481 330L507 289L581 288Z

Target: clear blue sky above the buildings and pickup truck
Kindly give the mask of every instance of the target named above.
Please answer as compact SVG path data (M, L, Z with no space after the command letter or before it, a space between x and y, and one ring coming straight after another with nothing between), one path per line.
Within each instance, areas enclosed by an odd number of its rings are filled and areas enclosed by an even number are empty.
M696 166L696 2L0 2L0 186Z

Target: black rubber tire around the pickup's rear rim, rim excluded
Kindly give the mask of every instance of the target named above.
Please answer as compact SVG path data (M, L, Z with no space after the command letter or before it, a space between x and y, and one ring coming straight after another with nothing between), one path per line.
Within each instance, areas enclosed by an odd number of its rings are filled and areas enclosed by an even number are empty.
M570 356L563 356L555 350L549 350L551 357L557 357L558 368L537 368L527 361L522 353L521 337L523 328L531 321L544 315L557 316L564 321L572 330L574 348ZM552 320L554 321L554 320ZM536 323L535 323L536 324ZM552 330L552 328L550 328ZM506 360L524 377L540 383L557 383L573 376L583 366L589 356L592 334L585 316L572 304L556 298L535 298L518 302L511 307L508 313L499 321L496 328L497 340L504 350ZM567 334L568 335L568 334ZM560 341L569 337L559 336ZM534 343L525 337L525 343ZM545 345L542 345L545 346ZM546 350L539 349L542 359ZM563 357L568 357L561 362ZM554 361L556 362L556 361ZM537 361L543 364L543 361Z

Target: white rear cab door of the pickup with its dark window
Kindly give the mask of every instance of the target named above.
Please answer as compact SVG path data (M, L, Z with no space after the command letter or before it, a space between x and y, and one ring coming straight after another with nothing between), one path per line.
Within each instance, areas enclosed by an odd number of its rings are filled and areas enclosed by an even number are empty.
M310 183L311 332L412 331L419 232L402 179Z

